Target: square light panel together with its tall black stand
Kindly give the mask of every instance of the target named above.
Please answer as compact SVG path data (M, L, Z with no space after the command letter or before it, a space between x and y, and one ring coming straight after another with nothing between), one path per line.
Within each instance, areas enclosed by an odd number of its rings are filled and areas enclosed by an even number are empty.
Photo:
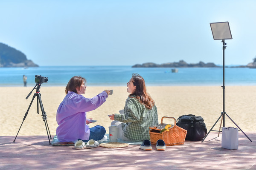
M221 116L219 116L219 118L217 119L215 124L212 126L212 128L209 130L209 132L206 134L204 139L208 136L208 134L211 131L221 132L220 131L221 130L221 125L220 125L219 130L212 130L212 129L217 124L218 120L221 117L222 117L221 123L223 121L223 127L225 127L225 115L236 125L236 123L225 112L225 49L227 47L227 46L225 46L225 45L227 45L227 43L225 43L225 39L232 39L229 23L228 22L210 23L210 26L211 26L211 29L212 29L213 39L214 40L222 40L221 42L222 42L222 50L223 50L223 85L221 87L222 87L222 91L223 91L223 111L221 112ZM239 130L241 130L241 128L238 125L236 125L236 127L238 127ZM241 130L241 132L244 133L243 130ZM250 140L250 142L252 142L252 140L245 133L244 133L244 135ZM204 139L202 140L202 142L204 142Z

